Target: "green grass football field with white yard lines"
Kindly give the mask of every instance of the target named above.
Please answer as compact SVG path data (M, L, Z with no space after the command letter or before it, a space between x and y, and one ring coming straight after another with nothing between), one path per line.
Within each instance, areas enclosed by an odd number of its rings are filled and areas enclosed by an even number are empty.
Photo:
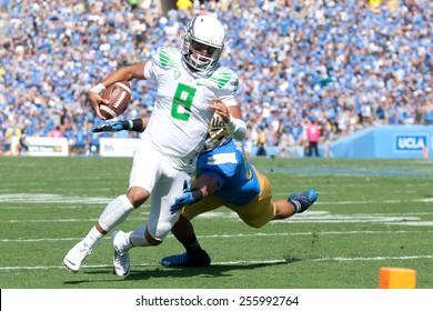
M315 188L309 211L261 229L228 209L193 220L212 257L203 269L167 269L182 252L170 235L131 251L132 272L112 274L110 237L79 273L68 250L105 204L125 192L131 159L0 157L2 289L376 289L381 267L416 270L433 289L433 162L430 160L252 159L275 199ZM147 221L145 203L119 228Z

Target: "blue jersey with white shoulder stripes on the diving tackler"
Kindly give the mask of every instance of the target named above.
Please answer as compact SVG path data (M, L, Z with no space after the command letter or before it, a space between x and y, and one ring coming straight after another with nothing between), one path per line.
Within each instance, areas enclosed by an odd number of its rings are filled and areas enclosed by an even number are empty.
M233 139L200 153L197 178L202 174L218 179L219 188L214 195L226 203L243 207L260 193L259 179L245 159L242 143Z

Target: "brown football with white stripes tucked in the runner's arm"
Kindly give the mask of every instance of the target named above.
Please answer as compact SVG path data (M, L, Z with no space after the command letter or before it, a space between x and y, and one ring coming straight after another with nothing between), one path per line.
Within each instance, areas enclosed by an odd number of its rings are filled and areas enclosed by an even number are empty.
M102 98L110 101L109 104L99 107L101 114L107 120L113 119L122 114L131 100L131 87L128 81L115 82L102 92Z

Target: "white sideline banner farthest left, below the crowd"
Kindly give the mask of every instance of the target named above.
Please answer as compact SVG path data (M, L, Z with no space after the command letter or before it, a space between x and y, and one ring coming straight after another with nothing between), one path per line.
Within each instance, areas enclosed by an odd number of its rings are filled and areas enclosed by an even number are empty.
M12 137L12 156L18 154L20 138ZM68 157L68 140L66 138L26 137L29 147L27 156L33 157Z

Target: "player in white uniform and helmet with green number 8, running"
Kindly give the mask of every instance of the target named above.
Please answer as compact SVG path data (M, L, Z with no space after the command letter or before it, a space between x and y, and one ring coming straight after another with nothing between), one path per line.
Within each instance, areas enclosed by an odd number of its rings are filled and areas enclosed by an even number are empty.
M198 16L185 27L181 49L159 48L151 60L118 69L90 90L91 106L101 119L104 118L99 106L108 103L101 93L118 81L154 80L159 99L134 151L128 192L112 200L87 237L67 253L67 269L78 272L93 247L151 195L148 222L132 232L112 234L114 271L128 275L129 250L160 244L179 219L180 212L171 213L170 205L195 170L214 112L221 116L232 137L245 137L246 127L234 100L238 76L218 63L224 36L220 21ZM141 129L141 122L131 122L130 129ZM201 199L199 189L191 191Z

